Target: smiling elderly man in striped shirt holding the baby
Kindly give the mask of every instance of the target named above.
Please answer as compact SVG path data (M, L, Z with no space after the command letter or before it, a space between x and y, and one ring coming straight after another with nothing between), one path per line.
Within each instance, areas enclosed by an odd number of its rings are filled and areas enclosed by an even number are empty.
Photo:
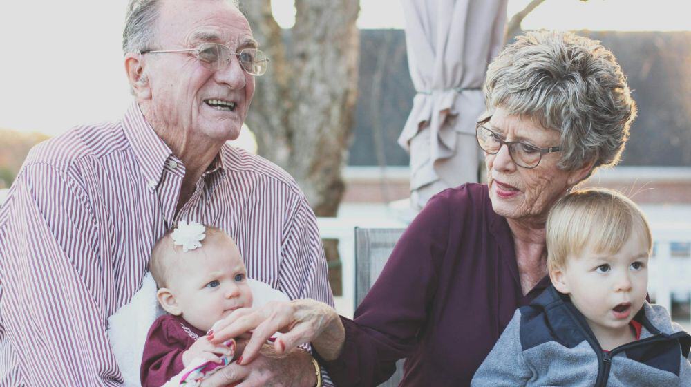
M122 120L35 147L0 210L0 385L117 386L106 321L178 220L236 240L248 275L332 304L314 213L276 165L234 149L267 59L224 0L131 1ZM232 364L220 384L314 386L304 350Z

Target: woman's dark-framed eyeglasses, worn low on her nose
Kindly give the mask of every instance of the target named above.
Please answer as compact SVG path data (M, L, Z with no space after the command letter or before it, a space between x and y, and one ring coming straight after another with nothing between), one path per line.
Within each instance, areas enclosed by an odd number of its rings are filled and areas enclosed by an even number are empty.
M506 141L498 133L486 128L486 126L484 126L486 122L489 122L489 118L477 122L475 126L477 144L480 144L480 148L491 155L499 153L502 145L506 144L507 147L509 147L509 155L511 155L511 160L513 160L513 162L515 162L515 164L519 167L535 168L538 166L538 164L540 164L542 155L545 153L561 151L561 147L538 148L534 145L527 144L526 142Z

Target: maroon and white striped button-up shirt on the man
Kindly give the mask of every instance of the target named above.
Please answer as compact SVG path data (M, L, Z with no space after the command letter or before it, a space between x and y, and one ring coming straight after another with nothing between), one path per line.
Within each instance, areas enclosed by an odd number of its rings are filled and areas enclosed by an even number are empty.
M314 213L276 165L224 145L176 214L184 164L137 104L37 145L0 209L0 386L117 386L107 319L178 220L225 230L249 277L333 305Z

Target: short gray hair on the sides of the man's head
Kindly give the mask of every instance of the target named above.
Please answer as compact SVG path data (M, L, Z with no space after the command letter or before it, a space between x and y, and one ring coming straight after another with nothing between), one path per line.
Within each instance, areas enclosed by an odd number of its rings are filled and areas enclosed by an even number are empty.
M155 24L163 0L130 0L127 5L125 28L122 31L122 50L139 53L152 48ZM238 0L226 0L240 9Z

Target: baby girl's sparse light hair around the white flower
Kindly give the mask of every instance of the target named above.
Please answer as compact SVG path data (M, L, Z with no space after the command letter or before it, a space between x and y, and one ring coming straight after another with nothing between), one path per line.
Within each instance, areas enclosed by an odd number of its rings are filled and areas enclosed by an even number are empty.
M204 248L205 243L210 243L211 240L218 238L218 236L226 236L225 232L218 227L204 225L205 227L205 238L202 240L202 247ZM153 250L151 251L151 258L149 259L149 271L151 276L153 276L153 281L156 282L158 287L168 287L171 267L175 265L176 261L182 253L182 247L176 246L173 243L173 234L175 228L169 229L163 236L158 238L155 245L153 245Z

